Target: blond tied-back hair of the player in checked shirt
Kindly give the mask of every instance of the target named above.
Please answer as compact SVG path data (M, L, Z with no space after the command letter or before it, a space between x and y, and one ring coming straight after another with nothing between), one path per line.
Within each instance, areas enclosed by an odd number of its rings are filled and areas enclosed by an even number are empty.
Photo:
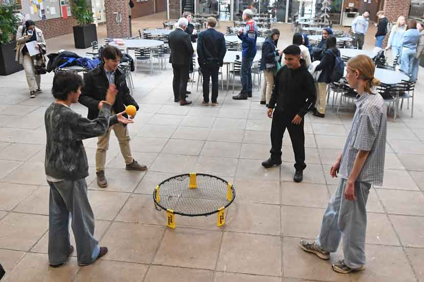
M347 61L347 67L359 71L359 78L366 82L365 92L371 93L372 87L380 85L380 81L374 78L375 65L368 56L358 55L350 58Z

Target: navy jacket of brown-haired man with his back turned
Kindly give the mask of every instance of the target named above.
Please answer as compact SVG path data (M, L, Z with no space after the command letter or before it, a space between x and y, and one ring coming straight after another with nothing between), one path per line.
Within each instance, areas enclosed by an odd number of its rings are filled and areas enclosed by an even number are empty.
M215 63L223 65L223 60L227 47L225 46L224 35L213 28L209 28L201 33L197 40L197 56L199 65Z

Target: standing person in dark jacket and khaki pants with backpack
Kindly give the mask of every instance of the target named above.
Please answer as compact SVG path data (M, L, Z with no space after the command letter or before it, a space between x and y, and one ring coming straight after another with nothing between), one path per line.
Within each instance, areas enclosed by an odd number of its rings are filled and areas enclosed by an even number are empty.
M315 71L322 70L317 82L318 98L315 108L318 108L318 110L314 112L314 116L317 117L325 116L325 107L327 106L327 84L332 82L331 74L336 65L336 57L340 57L340 51L336 47L337 40L334 35L328 36L325 44L322 60L315 68Z

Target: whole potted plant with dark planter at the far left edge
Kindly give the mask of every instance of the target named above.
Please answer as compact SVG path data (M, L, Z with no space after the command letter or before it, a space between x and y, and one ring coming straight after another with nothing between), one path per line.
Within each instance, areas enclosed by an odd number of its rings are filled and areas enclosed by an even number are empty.
M20 23L16 5L0 5L0 75L8 75L23 67L15 61L16 30Z

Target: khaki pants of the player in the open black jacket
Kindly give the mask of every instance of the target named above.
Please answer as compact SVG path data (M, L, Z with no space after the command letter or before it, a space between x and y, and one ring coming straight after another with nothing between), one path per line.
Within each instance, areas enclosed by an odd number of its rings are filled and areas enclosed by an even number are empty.
M119 146L121 148L122 156L124 157L125 163L132 163L132 155L130 148L130 135L128 134L128 127L122 125L122 123L116 123L109 127L107 132L99 136L99 141L97 142L97 151L96 151L96 171L105 170L106 163L106 151L109 148L109 138L110 132L115 132L116 138L119 141Z

